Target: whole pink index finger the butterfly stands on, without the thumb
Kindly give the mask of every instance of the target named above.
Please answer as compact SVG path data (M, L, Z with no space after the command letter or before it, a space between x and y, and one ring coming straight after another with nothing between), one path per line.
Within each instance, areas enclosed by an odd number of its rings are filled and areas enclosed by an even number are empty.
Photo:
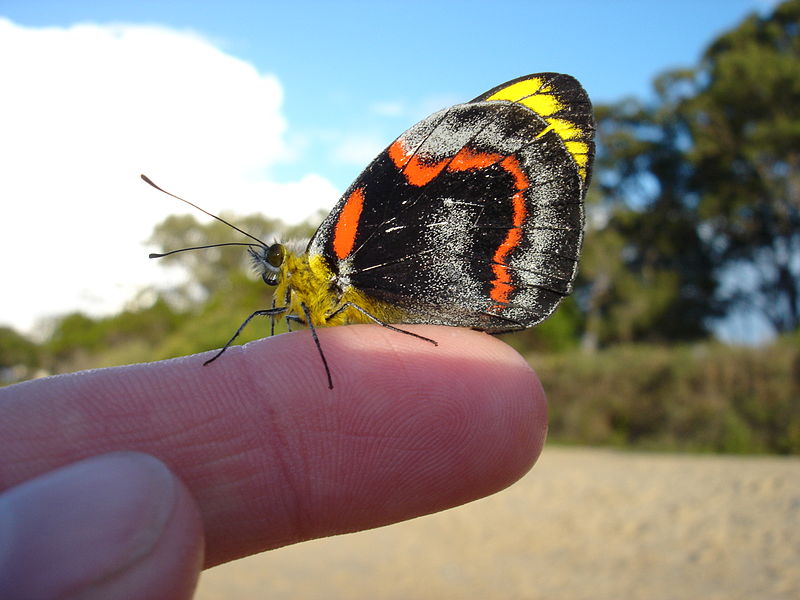
M533 371L483 333L308 331L208 356L0 390L0 488L115 450L164 461L197 500L206 566L385 525L509 485L546 431Z

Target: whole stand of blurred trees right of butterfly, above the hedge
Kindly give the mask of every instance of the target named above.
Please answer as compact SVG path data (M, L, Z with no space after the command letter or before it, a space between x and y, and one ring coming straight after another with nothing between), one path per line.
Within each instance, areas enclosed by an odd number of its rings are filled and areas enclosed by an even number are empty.
M800 327L798 65L792 0L660 75L654 102L596 108L587 345L702 339L736 307Z

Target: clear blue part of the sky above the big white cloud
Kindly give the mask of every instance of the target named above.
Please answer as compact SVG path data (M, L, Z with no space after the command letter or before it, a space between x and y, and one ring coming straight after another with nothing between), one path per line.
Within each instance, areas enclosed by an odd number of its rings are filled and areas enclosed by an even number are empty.
M284 88L290 135L306 162L282 164L273 176L290 180L312 164L343 189L368 150L446 104L537 71L576 76L596 103L645 97L656 74L695 64L715 35L772 4L6 0L0 15L33 27L158 24L207 37ZM351 153L333 152L337 136L352 136Z

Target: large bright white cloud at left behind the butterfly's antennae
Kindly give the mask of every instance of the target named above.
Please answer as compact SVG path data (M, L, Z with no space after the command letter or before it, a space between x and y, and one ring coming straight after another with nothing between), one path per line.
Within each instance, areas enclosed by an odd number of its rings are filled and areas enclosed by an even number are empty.
M0 19L0 322L118 310L168 274L143 240L177 201L300 221L322 177L277 184L283 92L200 36L153 26L32 29Z

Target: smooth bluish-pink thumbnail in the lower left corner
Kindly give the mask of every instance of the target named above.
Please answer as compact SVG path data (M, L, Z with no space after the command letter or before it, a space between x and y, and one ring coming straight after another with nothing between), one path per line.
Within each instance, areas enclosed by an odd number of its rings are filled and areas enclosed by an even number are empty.
M118 575L155 546L176 498L134 452L62 467L0 496L0 597L56 598Z

